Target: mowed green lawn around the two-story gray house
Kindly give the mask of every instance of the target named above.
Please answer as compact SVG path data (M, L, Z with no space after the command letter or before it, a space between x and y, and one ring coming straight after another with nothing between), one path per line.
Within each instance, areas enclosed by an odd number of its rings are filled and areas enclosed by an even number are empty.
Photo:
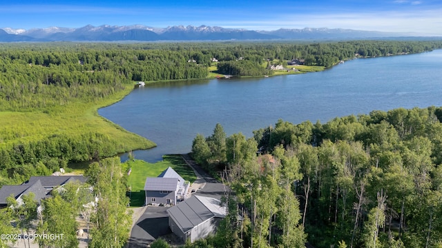
M193 169L186 165L181 155L164 155L163 161L157 163L147 163L141 160L128 161L123 164L123 169L131 166L131 175L128 176L128 183L132 189L131 207L141 207L144 205L144 183L147 177L157 177L169 166L180 174L184 180L193 183L196 180Z

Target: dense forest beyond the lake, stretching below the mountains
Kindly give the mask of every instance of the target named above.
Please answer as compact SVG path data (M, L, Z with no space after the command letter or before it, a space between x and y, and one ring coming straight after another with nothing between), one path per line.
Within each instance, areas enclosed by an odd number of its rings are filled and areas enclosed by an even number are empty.
M202 79L212 58L221 62L221 73L261 76L268 73L261 66L267 60L304 59L306 65L330 67L355 54L387 56L436 48L442 48L442 41L4 44L0 106L17 111L64 104L73 98L91 100L119 91L122 83L130 81ZM42 99L42 95L51 97Z

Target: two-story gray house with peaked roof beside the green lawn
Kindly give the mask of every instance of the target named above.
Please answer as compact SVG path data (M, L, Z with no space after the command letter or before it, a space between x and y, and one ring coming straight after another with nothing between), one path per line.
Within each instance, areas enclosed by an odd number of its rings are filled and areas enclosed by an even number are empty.
M146 178L144 192L146 205L176 205L185 200L190 183L177 174L171 167L167 168L156 178Z

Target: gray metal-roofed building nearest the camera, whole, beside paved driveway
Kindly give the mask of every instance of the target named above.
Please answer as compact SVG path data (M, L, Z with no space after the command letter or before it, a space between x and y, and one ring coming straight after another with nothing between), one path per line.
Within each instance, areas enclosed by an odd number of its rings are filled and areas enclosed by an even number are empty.
M221 201L211 197L192 196L167 209L169 227L181 240L194 242L216 231L227 208Z

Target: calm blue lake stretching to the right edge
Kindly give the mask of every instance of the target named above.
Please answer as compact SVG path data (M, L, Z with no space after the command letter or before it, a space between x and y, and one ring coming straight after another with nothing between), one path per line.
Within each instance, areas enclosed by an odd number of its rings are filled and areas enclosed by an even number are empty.
M442 50L355 59L324 72L258 79L166 82L135 88L100 115L157 143L135 151L155 162L191 151L193 138L209 136L216 123L227 135L274 125L326 123L372 110L442 105ZM122 158L124 160L124 158Z

